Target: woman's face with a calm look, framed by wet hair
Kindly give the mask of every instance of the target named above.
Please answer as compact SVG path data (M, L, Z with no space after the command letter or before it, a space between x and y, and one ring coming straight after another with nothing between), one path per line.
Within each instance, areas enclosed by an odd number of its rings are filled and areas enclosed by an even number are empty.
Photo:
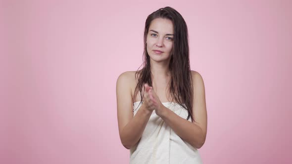
M156 62L170 59L173 37L174 30L171 20L163 18L152 20L146 38L150 59Z

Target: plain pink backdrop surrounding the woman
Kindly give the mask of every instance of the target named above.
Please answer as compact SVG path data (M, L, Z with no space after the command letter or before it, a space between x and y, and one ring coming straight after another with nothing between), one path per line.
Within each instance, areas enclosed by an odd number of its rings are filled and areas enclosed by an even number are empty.
M205 82L204 164L292 163L290 0L0 2L0 163L128 164L115 86L172 6Z

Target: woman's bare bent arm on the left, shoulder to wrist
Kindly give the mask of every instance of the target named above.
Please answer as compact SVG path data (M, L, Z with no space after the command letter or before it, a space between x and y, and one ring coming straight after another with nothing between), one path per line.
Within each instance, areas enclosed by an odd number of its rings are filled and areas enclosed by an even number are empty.
M135 146L140 140L153 112L146 108L146 103L143 103L135 117L133 117L131 94L131 83L133 83L133 79L131 78L133 78L131 72L122 73L116 84L119 134L122 144L127 149Z

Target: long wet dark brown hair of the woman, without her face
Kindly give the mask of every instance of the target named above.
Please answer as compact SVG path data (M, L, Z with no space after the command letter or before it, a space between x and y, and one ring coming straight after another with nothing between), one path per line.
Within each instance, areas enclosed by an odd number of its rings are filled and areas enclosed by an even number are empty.
M146 38L149 30L149 26L152 20L156 18L164 18L172 21L174 25L174 43L171 51L171 59L169 63L169 70L171 74L169 86L169 93L172 97L172 102L175 101L182 107L188 110L188 118L193 118L193 80L190 69L189 59L189 42L188 42L188 28L182 15L172 7L160 8L150 15L148 15L145 23L144 31L144 53L143 53L143 68L136 72L137 86L134 91L133 102L140 91L141 102L143 101L144 84L148 83L152 86L151 71L150 71L150 57L147 52ZM185 105L184 105L185 104Z

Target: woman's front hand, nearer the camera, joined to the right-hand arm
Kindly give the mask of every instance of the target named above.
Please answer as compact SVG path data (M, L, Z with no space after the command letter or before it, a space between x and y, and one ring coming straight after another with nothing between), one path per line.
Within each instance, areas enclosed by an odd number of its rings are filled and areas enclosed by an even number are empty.
M145 86L148 86L148 85L145 84ZM161 116L163 111L165 110L164 105L160 102L159 97L153 91L152 87L148 86L146 91L150 100L151 108L154 108L157 116Z

